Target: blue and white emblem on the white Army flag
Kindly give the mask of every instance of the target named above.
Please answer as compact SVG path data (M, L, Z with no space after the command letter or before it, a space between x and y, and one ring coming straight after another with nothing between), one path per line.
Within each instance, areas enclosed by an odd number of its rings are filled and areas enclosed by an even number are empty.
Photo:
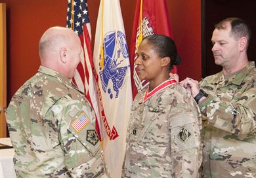
M100 67L102 90L110 98L118 98L119 90L125 83L129 69L129 53L125 34L122 31L110 31L104 37L104 66ZM115 96L114 96L115 94Z

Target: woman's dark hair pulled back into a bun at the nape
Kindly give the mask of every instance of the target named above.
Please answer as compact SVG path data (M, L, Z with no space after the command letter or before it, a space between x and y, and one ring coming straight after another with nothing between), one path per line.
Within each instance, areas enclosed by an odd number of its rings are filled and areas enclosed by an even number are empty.
M171 58L171 62L169 65L170 70L173 69L173 65L178 65L179 63L181 63L181 57L177 54L177 47L173 39L165 35L158 34L144 37L142 41L144 41L145 39L153 45L154 50L158 53L158 56L160 58Z

